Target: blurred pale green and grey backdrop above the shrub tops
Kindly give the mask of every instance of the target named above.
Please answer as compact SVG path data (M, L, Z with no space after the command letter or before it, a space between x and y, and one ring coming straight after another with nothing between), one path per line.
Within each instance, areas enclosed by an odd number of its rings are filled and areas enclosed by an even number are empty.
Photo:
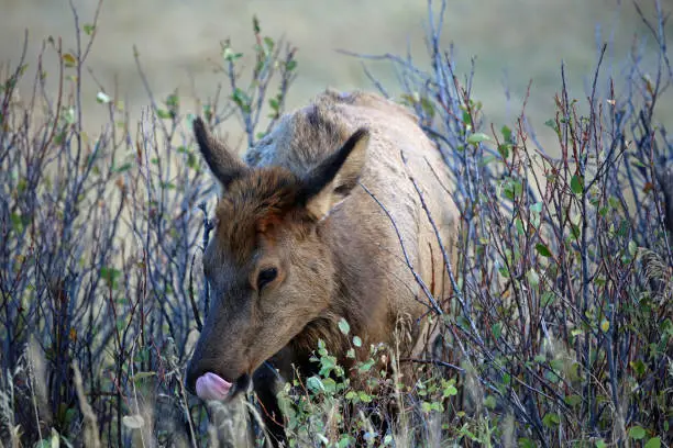
M97 0L74 3L81 22L90 22ZM440 2L434 3L439 10ZM639 4L646 13L653 13L653 0ZM31 67L48 35L62 36L66 48L74 46L67 0L0 0L0 5L1 63L18 60L25 29L30 31ZM673 1L661 5L668 13ZM178 88L184 111L194 112L195 98L212 96L217 83L225 82L209 61L220 58L220 41L231 37L235 49L251 53L253 14L260 18L263 33L284 35L298 47L299 77L290 89L290 107L307 102L328 86L372 87L361 61L336 53L338 48L402 55L409 47L418 64L427 66L428 3L422 0L106 0L87 67L108 92L117 79L132 117L140 117L147 96L133 59L135 44L156 97L165 98ZM571 93L584 97L597 60L597 42L610 38L614 45L608 47L606 72L618 74L633 48L644 46L647 54L654 54L655 43L630 1L450 0L443 27L443 44L455 45L459 74L466 74L470 59L476 56L474 97L483 101L487 120L497 128L519 113L532 80L527 111L543 142L552 135L541 124L553 115L561 60L567 65ZM649 61L652 69L654 61ZM45 65L55 74L53 59L45 59ZM391 93L399 91L389 64L369 66ZM49 89L55 89L55 80L54 75ZM88 76L85 81L86 127L96 132L107 121L106 110L96 102L96 83ZM22 86L23 99L29 94L27 85ZM670 122L673 102L663 101L659 108L660 119ZM236 123L227 126L235 131Z

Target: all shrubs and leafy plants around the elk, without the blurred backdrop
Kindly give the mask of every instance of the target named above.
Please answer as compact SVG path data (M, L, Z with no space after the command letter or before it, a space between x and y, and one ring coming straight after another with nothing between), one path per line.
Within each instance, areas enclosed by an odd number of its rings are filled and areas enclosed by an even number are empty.
M604 46L578 97L561 66L547 122L558 146L544 148L525 107L514 123L484 127L471 75L462 80L440 47L443 12L430 4L429 67L377 58L400 75L397 100L456 180L446 186L462 213L461 259L446 264L455 306L428 316L443 329L432 359L372 347L355 366L369 376L364 389L316 347L320 374L280 393L293 444L670 446L673 173L664 167L673 144L657 119L673 75L664 14L642 18L659 44L655 64L635 51L613 79ZM25 57L0 79L0 443L260 446L254 396L206 406L184 389L210 300L199 256L214 204L191 115L178 92L158 100L147 86L151 109L131 122L101 86L109 126L87 134L81 79L96 21L74 18L75 49L45 42L58 72L40 58L22 98ZM198 111L212 127L239 119L247 145L283 113L297 70L291 46L264 36L256 20L253 34L247 71L238 43L222 44L225 87ZM341 329L361 344L345 321ZM379 356L417 366L419 381L405 389L373 371ZM390 417L372 408L384 393L400 403L399 422L375 434L369 416Z

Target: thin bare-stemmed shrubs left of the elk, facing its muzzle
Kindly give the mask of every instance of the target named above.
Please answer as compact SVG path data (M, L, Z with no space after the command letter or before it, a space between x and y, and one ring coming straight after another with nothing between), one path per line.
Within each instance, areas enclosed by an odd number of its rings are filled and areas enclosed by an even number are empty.
M73 8L73 18L76 47L44 42L30 96L18 96L25 52L0 79L0 440L202 446L208 412L185 392L183 371L208 309L197 261L213 184L177 92L162 101L147 85L151 107L135 126L100 86L109 124L84 131L98 13L82 23ZM295 51L265 38L256 20L254 38L244 76L223 44L232 94L217 92L199 111L212 126L240 114L251 142L262 113L273 123L283 112L296 65ZM42 60L52 55L60 64L47 77ZM26 357L31 339L43 369Z

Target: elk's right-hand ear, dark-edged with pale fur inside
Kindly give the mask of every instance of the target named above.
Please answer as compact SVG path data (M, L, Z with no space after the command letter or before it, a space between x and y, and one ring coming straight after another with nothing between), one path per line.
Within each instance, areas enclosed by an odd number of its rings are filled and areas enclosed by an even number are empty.
M369 131L361 127L339 150L311 169L302 181L300 205L317 220L324 219L357 184L368 145Z

